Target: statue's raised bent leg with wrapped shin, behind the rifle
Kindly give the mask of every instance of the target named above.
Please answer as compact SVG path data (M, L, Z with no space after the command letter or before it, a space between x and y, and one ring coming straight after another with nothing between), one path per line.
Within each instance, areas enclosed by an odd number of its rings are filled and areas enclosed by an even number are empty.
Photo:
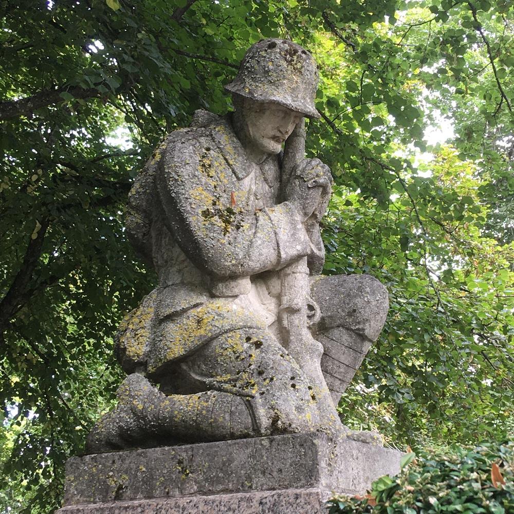
M314 337L323 344L321 368L334 402L352 380L386 321L386 287L370 275L316 277L311 295L321 310Z

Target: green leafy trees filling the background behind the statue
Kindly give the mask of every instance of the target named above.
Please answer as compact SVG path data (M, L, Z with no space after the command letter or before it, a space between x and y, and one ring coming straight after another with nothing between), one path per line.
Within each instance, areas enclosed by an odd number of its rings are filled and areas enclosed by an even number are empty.
M112 336L155 282L123 232L134 176L195 109L226 112L222 84L269 36L320 65L325 272L390 290L346 420L411 446L514 429L513 17L487 0L1 4L4 510L52 511L113 401ZM427 146L440 120L454 136Z

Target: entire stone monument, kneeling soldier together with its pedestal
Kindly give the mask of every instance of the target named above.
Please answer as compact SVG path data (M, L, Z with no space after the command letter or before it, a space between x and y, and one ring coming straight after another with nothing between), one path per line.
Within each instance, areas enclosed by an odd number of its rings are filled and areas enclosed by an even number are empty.
M370 276L317 278L332 186L305 159L317 85L308 51L256 43L227 86L235 112L196 113L137 177L126 231L158 286L115 337L128 376L67 463L60 514L320 514L330 491L398 471L334 405L388 298Z

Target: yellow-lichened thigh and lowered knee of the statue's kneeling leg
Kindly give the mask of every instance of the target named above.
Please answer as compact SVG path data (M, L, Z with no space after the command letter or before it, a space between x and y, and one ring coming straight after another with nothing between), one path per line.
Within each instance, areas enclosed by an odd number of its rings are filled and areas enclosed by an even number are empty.
M255 435L319 427L315 387L267 332L231 331L201 348L184 366L207 387L245 398Z

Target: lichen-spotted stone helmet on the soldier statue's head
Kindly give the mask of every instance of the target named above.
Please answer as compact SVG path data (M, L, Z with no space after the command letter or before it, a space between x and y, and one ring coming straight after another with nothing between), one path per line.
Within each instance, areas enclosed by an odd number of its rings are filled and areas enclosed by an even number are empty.
M265 39L248 49L236 78L225 89L319 118L314 105L318 82L316 62L307 50L291 41Z

